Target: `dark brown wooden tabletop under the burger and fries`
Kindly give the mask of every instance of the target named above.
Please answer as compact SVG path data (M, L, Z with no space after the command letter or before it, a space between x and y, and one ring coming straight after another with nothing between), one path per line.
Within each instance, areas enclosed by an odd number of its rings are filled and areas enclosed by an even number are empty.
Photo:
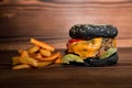
M131 88L132 48L119 48L119 63L109 67L64 67L11 70L15 51L0 51L0 88Z

